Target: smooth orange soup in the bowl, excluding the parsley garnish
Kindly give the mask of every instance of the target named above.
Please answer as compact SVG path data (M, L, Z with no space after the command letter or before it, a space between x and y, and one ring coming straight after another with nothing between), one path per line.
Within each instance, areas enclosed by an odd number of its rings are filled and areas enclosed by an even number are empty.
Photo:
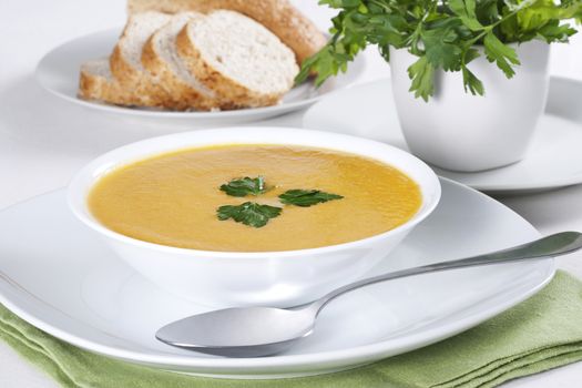
M265 180L261 195L236 197L221 185ZM282 204L288 190L319 190L343 198L309 207ZM376 160L285 145L187 149L129 164L100 178L91 213L108 228L137 239L203 251L314 248L389 231L420 207L418 185ZM263 227L221 221L217 208L255 202L280 207Z

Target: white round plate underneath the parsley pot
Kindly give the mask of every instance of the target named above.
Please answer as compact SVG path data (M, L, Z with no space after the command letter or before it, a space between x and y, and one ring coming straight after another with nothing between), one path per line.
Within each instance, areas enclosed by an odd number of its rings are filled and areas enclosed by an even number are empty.
M522 194L582 183L582 82L552 78L545 113L525 157L507 167L440 176L489 193ZM408 151L389 79L338 92L312 106L303 126L379 140ZM430 127L427 127L430 131Z

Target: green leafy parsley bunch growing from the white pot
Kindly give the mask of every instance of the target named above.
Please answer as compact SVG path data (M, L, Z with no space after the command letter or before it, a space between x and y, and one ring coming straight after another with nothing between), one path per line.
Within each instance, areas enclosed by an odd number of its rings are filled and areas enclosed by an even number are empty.
M389 48L407 49L418 60L408 68L410 92L425 101L433 94L436 70L460 71L466 92L484 94L468 64L484 53L508 79L520 64L508 43L539 39L568 42L582 22L582 0L319 0L338 9L331 40L302 65L297 82L317 73L320 85L368 44L389 61ZM483 47L480 51L477 48Z

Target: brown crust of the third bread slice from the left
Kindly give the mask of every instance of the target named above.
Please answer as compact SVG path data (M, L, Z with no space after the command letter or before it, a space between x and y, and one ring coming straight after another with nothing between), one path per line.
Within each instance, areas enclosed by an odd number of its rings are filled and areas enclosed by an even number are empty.
M163 85L170 99L165 102L165 108L185 111L190 109L197 109L202 111L210 111L213 109L233 109L233 104L227 101L221 101L217 98L205 95L193 86L182 81L163 60L162 55L156 51L154 42L155 34L150 37L142 51L142 63L145 69L159 80Z

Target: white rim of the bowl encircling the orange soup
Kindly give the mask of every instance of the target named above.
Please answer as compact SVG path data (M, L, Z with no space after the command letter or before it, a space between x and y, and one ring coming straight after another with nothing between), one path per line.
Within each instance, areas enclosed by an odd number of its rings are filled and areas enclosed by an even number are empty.
M120 167L121 165L125 165L125 164L129 164L129 163L132 163L132 162L135 162L135 161L146 160L150 156L153 156L153 155L156 155L156 154L163 154L165 152L173 152L173 151L180 151L180 150L195 149L197 145L204 146L204 145L211 145L211 144L212 145L221 145L221 144L225 144L225 145L226 144L233 144L234 145L234 144L263 144L263 143L257 143L257 142L254 142L254 141L248 141L248 142L228 141L228 139L219 139L221 136L217 136L218 139L216 139L215 141L211 141L208 143L205 143L205 144L184 144L183 146L175 146L175 147L171 147L170 150L162 150L162 149L160 149L157 151L144 152L142 156L133 157L133 159L131 159L131 157L125 157L125 159L123 159L123 157L121 157L121 159L114 157L114 161L115 161L114 164L115 165L114 165L113 169L105 169L106 172L101 172L101 173L95 175L96 171L104 170L103 165L104 165L105 161L111 163L111 157L112 157L113 154L118 154L118 153L121 153L123 151L126 151L126 150L130 150L130 149L134 149L134 147L139 147L139 146L146 145L146 144L155 144L160 140L171 140L171 139L174 139L174 137L180 139L182 136L187 136L187 137L194 136L194 137L196 137L196 134L198 134L198 136L204 136L204 135L212 135L214 133L219 134L221 132L222 133L226 133L228 131L236 131L238 133L242 133L242 132L247 132L247 133L254 133L255 132L256 133L256 132L262 132L262 131L276 131L276 132L279 132L279 133L293 132L294 134L303 134L303 135L306 135L307 133L309 133L309 134L319 135L319 136L335 137L335 139L338 139L338 140L339 139L344 139L346 141L365 142L365 143L369 143L369 144L375 144L376 146L380 145L380 146L385 147L388 152L396 153L397 155L400 155L400 156L404 156L404 157L406 157L406 159L408 159L410 161L413 161L413 163L416 163L418 167L420 167L426 173L428 173L428 175L430 176L429 180L431 181L431 186L429 186L429 185L422 186L416 180L415 180L415 182L420 186L420 188L422 191L422 194L425 194L425 188L431 188L431 194L432 195L431 195L431 198L427 198L426 195L422 195L422 202L421 202L420 208L417 211L417 213L415 213L412 215L412 217L410 217L408 221L406 221L405 223L398 225L397 227L395 227L392 229L389 229L389 231L386 231L386 232L382 232L382 233L379 233L379 234L375 234L375 235L369 236L369 237L350 241L350 242L347 242L347 243L340 243L340 244L334 244L334 245L325 245L325 246L314 247L314 248L289 249L289 251L264 251L264 252L263 251L258 251L258 252L204 251L204 249L192 249L192 248L182 248L182 247L170 246L170 245L162 245L162 244L151 243L151 242L146 242L146 241L143 241L143 239L130 237L130 236L126 236L126 235L121 234L119 232L115 232L113 229L110 229L109 227L106 227L105 225L101 224L99 221L94 219L91 216L91 212L90 212L89 207L86 206L86 194L88 194L89 190L95 184L95 182L100 177L102 177L109 171ZM193 141L193 143L195 143L195 141ZM297 144L297 143L294 143L293 140L289 140L288 143L286 143L286 141L280 141L280 142L265 142L264 144L282 144L282 145L283 144L289 144L289 145L294 145L294 144ZM343 151L343 150L339 150L337 147L334 147L333 145L313 144L313 145L304 145L304 146L320 147L320 149L324 149L324 150L327 149L327 150L339 151L339 152L345 152L345 153L351 153L351 154L356 154L356 155L359 155L359 156L365 156L365 157L378 160L378 159L376 159L374 156L368 156L366 154L358 153L358 152L355 152L355 151ZM155 147L155 145L153 147ZM385 163L385 164L389 164L388 162L384 162L384 161L380 161L380 162ZM398 170L402 170L400 166L398 166L396 164L394 166L396 169L398 169ZM83 181L85 181L88 176L90 176L91 183L90 184L84 184ZM313 254L326 254L326 253L344 251L344 249L348 249L348 248L357 248L359 246L367 245L367 244L370 244L370 243L372 244L372 243L375 243L377 241L385 239L385 238L387 238L387 237L389 237L391 235L399 234L401 232L408 231L408 229L415 227L416 225L418 225L426 217L428 217L430 215L430 213L432 213L432 211L437 207L437 205L438 205L438 203L440 201L440 196L441 196L441 186L440 186L440 182L439 182L439 178L438 178L437 174L432 171L432 169L430 169L428 166L428 164L426 164L420 159L418 159L417 156L415 156L415 155L412 155L412 154L410 154L410 153L408 153L406 151L402 151L402 150L400 150L398 147L395 147L395 146L386 144L386 143L381 143L381 142L378 142L378 141L374 141L374 140L369 140L369 139L365 139L365 137L359 137L359 136L346 135L346 134L340 134L340 133L335 133L335 132L327 132L327 131L315 131L315 130L306 130L306 129L298 129L298 127L282 127L282 126L225 126L225 127L216 127L216 129L208 129L208 130L180 132L180 133L173 133L173 134L162 135L162 136L156 136L156 137L149 137L149 139L145 139L145 140L142 140L142 141L133 142L133 143L125 144L125 145L122 145L120 147L113 149L113 150L111 150L111 151L109 151L109 152L106 152L104 154L101 154L100 156L93 159L91 162L85 164L73 176L73 178L70 181L70 183L69 183L69 185L67 187L67 202L68 202L68 206L71 210L71 212L73 213L73 215L78 219L80 219L85 226L89 226L91 229L93 229L94 232L99 233L102 236L115 239L115 241L124 243L124 244L139 246L141 248L149 248L149 249L163 252L163 253L169 253L169 254L173 254L173 255L201 256L201 257L205 257L205 258L213 258L213 257L235 258L236 257L236 258L248 258L248 259L253 259L253 258L261 259L261 258L266 258L266 257L274 258L274 257L288 257L288 256L304 256L304 255L313 255ZM79 201L80 197L82 197L82 201ZM429 200L429 201L427 201L427 200ZM84 206L80 206L80 203L84 204Z

